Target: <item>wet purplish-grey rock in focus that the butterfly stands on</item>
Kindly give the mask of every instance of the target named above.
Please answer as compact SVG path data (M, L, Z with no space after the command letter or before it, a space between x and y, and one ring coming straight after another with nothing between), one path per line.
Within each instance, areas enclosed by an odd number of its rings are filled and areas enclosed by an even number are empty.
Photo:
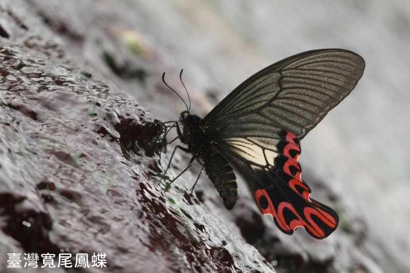
M163 192L162 125L83 70L50 24L1 41L1 270L14 270L8 253L107 255L107 267L80 271L272 270L232 222L207 224L215 216L196 198ZM53 31L78 38L67 28Z

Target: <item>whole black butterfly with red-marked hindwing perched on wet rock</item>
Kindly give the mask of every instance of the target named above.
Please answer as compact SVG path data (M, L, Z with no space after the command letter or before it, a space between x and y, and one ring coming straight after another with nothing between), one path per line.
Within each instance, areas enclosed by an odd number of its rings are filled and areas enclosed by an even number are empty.
M315 238L329 236L339 218L310 198L298 163L299 140L355 88L363 70L363 58L351 51L307 51L257 72L203 119L187 106L179 119L182 131L178 121L169 127L176 126L188 145L175 150L193 155L183 172L196 159L232 209L237 197L232 165L282 232L292 234L301 226Z

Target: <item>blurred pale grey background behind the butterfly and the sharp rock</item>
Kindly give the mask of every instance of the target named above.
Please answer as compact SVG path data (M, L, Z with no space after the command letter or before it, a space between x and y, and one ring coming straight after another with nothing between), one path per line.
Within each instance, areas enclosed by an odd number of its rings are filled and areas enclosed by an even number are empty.
M64 34L74 57L84 57L90 70L162 121L185 110L162 84L162 72L186 98L178 78L184 69L192 112L203 116L243 80L285 57L323 48L361 55L366 68L357 87L301 142L303 178L316 200L320 186L335 196L342 212L335 234L353 230L353 253L371 261L367 271L410 271L410 2L21 2L37 11L38 22L47 18Z

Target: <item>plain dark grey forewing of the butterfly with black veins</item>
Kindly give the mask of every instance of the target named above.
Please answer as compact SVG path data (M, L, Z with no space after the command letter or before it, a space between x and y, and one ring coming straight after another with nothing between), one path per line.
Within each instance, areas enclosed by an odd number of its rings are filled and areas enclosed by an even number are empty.
M202 124L218 130L220 120L260 120L302 139L353 90L363 70L359 55L340 49L286 58L245 80L204 117Z

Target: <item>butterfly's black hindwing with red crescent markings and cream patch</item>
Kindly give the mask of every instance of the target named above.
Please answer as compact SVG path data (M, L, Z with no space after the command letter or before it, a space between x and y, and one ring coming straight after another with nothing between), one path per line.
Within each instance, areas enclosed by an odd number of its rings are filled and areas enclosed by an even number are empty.
M242 127L246 124L241 123ZM311 189L301 178L296 136L263 123L258 130L238 131L235 137L216 136L220 142L214 144L240 171L261 212L271 214L286 234L302 226L315 238L329 236L338 217L330 207L310 198Z

